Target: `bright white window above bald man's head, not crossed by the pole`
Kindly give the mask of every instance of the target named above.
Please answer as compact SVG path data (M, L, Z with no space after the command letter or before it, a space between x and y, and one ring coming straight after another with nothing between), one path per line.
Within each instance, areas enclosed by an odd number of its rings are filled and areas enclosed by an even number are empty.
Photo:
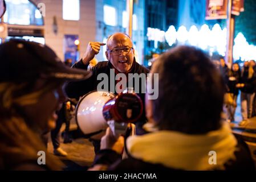
M116 9L115 7L104 5L104 23L110 26L116 26Z

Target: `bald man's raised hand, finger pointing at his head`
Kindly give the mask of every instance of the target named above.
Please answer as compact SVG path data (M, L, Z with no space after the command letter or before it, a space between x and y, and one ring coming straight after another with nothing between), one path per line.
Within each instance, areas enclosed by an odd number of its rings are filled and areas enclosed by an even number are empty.
M83 56L83 64L89 64L89 62L94 59L94 56L97 55L100 52L100 46L104 46L105 43L100 42L89 42L86 53L84 53Z

